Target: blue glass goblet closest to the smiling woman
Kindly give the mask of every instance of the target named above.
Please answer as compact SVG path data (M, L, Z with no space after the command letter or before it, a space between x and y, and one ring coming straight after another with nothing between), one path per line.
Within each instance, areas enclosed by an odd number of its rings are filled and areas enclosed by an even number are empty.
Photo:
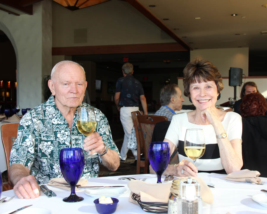
M167 169L170 161L170 147L167 142L151 142L148 149L148 159L161 183L161 175Z

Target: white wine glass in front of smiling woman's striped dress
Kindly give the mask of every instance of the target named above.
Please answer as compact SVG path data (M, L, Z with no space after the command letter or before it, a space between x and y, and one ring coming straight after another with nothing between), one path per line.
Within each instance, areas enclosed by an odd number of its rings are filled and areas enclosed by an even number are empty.
M187 129L185 133L185 154L196 166L196 159L204 155L206 145L203 129Z

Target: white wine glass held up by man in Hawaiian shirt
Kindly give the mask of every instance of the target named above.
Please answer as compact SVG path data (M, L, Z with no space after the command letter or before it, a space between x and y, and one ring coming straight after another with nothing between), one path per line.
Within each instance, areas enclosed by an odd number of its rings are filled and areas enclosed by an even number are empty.
M77 112L77 128L80 133L89 136L96 130L96 115L93 107L80 107ZM97 155L85 155L84 158L96 158Z

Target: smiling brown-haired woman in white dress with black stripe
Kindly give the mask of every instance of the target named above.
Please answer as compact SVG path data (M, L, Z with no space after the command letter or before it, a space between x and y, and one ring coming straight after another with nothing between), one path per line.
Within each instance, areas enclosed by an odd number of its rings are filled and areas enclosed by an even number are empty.
M178 165L169 165L166 174L179 177L196 176L196 172L231 173L241 169L242 121L239 114L217 109L215 103L223 89L217 67L203 59L195 59L185 67L184 95L196 110L173 116L166 133L171 153L179 147ZM206 150L196 166L184 151L185 132L188 128L203 129Z

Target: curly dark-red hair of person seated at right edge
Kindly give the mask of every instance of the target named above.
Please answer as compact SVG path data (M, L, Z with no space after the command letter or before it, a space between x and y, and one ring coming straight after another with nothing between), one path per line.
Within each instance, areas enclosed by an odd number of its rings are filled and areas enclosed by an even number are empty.
M242 98L240 112L242 117L255 117L264 115L267 110L267 102L261 93L247 94Z

